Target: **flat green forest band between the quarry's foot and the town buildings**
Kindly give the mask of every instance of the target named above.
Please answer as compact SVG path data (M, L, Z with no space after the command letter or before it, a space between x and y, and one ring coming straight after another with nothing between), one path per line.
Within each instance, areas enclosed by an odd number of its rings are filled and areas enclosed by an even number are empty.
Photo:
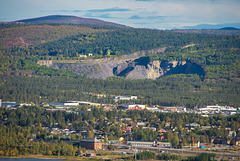
M0 98L17 102L68 100L114 103L113 95L136 95L132 103L193 108L220 104L239 107L239 81L201 81L198 75L172 75L158 80L107 80L59 77L0 77ZM90 93L106 94L98 98ZM124 101L119 102L126 103Z

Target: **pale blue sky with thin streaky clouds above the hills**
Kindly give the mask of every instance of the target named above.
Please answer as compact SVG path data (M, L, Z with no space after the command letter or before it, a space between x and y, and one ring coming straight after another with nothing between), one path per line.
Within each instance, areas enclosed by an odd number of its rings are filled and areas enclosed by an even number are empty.
M47 15L97 18L136 28L240 23L240 0L0 0L0 21Z

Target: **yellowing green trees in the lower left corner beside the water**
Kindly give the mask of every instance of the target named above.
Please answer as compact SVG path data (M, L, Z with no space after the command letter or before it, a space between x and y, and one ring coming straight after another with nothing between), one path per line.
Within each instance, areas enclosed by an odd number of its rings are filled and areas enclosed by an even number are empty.
M43 139L46 139L50 132L44 130L42 125L48 125L53 116L39 107L21 108L16 111L1 108L0 113L1 121L5 122L0 125L1 156L29 154L75 156L76 153L85 152L84 148L68 145L62 141L44 142ZM55 119L60 124L61 114L57 114ZM34 136L35 141L29 141Z

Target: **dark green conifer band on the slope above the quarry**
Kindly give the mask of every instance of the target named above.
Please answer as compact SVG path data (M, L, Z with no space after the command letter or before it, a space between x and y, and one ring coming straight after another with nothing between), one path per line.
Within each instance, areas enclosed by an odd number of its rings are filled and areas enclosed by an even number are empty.
M237 47L239 39L237 36L183 34L169 31L125 28L108 32L74 35L41 44L36 46L36 49L47 49L50 52L56 51L57 54L62 54L64 57L76 57L77 53L93 53L93 55L102 57L107 55L106 51L108 49L111 50L112 55L126 55L161 47L183 47L190 43L208 47L213 42L225 48L229 46ZM61 52L59 52L60 50Z

